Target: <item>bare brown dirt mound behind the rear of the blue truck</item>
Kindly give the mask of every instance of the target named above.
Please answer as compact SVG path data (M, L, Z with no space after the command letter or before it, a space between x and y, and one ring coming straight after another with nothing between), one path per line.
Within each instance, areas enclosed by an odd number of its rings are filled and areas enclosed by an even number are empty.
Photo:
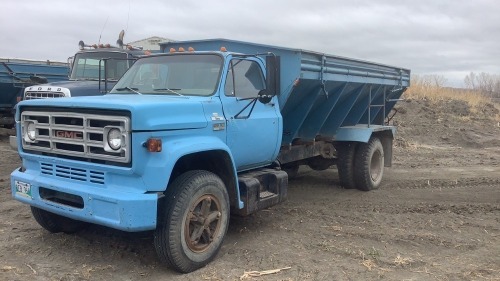
M488 148L500 146L499 110L492 103L472 107L465 101L431 102L408 99L393 118L396 145Z

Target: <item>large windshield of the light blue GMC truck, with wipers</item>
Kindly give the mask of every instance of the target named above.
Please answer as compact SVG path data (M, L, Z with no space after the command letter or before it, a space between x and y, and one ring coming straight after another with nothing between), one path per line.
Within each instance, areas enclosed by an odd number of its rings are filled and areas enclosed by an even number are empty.
M111 93L209 96L218 85L222 57L212 54L152 56L138 60Z

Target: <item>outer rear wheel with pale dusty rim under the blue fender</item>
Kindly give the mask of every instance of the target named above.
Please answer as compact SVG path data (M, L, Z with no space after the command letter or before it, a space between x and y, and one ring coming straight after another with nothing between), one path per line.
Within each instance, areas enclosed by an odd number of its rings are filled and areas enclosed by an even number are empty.
M359 144L354 161L354 181L362 191L377 189L384 175L384 148L380 139L372 137Z

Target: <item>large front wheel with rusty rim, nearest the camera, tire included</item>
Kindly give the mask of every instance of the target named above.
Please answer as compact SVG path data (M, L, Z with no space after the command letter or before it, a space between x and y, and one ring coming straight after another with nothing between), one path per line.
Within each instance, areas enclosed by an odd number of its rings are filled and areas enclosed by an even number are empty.
M208 171L189 171L168 187L166 210L155 231L160 260L183 273L217 255L229 225L229 197L222 180Z

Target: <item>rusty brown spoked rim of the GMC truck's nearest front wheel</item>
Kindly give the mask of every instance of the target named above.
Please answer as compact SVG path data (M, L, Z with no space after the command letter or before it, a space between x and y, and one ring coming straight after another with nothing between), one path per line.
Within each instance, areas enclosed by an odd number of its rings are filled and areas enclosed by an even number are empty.
M217 197L203 195L191 205L186 216L184 239L193 252L205 251L221 228L221 204Z

